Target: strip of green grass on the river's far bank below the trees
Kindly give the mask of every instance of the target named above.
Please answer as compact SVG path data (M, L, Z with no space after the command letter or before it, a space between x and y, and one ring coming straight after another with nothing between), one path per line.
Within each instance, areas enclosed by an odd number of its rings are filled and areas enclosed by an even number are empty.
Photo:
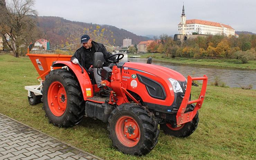
M248 63L243 64L238 59L196 59L196 58L162 58L165 54L161 53L147 53L147 54L134 54L139 55L140 58L148 58L149 56L153 59L159 59L166 62L176 64L188 64L188 65L204 65L204 66L217 66L217 67L230 67L230 68L241 68L241 69L256 69L256 60L249 60ZM133 55L130 55L133 56Z

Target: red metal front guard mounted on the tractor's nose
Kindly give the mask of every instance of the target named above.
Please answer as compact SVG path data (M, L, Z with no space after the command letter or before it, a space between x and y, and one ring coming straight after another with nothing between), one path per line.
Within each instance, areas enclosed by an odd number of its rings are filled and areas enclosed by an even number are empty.
M196 80L203 80L201 93L200 93L198 99L189 101L192 81L196 81ZM184 98L181 102L181 106L180 106L179 110L177 111L177 115L176 115L177 125L181 125L181 124L192 121L194 116L196 115L197 111L202 107L204 95L205 95L206 87L207 87L207 81L208 81L208 77L206 75L204 75L203 77L188 76L186 92L185 92ZM188 104L192 104L192 103L196 103L194 110L184 113L186 110L186 106Z

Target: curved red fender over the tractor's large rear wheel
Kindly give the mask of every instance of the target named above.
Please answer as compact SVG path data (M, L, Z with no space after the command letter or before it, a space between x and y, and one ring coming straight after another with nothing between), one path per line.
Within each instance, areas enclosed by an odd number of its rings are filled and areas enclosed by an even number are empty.
M82 73L82 68L79 65L73 64L70 61L54 61L52 64L52 67L63 67L63 66L67 66L69 69L71 69L74 72L80 84L84 100L86 101L87 98L93 97L92 83L88 73L87 72Z

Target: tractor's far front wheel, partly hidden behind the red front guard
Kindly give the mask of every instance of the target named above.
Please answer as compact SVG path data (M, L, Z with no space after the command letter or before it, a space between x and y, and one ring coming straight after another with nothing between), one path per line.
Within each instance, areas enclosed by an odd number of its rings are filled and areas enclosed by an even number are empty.
M195 129L198 126L198 122L199 122L199 116L198 116L198 112L195 115L195 117L193 118L192 121L182 124L180 126L177 126L176 128L173 128L171 124L169 123L164 123L164 124L160 124L160 129L164 131L165 134L167 135L172 135L174 137L188 137L189 135L191 135Z

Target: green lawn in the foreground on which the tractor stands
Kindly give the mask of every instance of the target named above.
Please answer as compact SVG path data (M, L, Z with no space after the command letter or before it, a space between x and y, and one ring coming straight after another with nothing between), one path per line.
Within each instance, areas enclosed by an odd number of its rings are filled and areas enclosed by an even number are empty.
M68 129L48 123L42 103L30 106L26 85L39 84L28 57L0 55L0 113L107 160L119 159L255 159L256 91L208 86L200 122L190 137L174 138L161 131L156 147L146 156L129 156L112 147L107 124L84 118ZM199 94L192 88L192 95ZM196 94L198 93L198 94Z

